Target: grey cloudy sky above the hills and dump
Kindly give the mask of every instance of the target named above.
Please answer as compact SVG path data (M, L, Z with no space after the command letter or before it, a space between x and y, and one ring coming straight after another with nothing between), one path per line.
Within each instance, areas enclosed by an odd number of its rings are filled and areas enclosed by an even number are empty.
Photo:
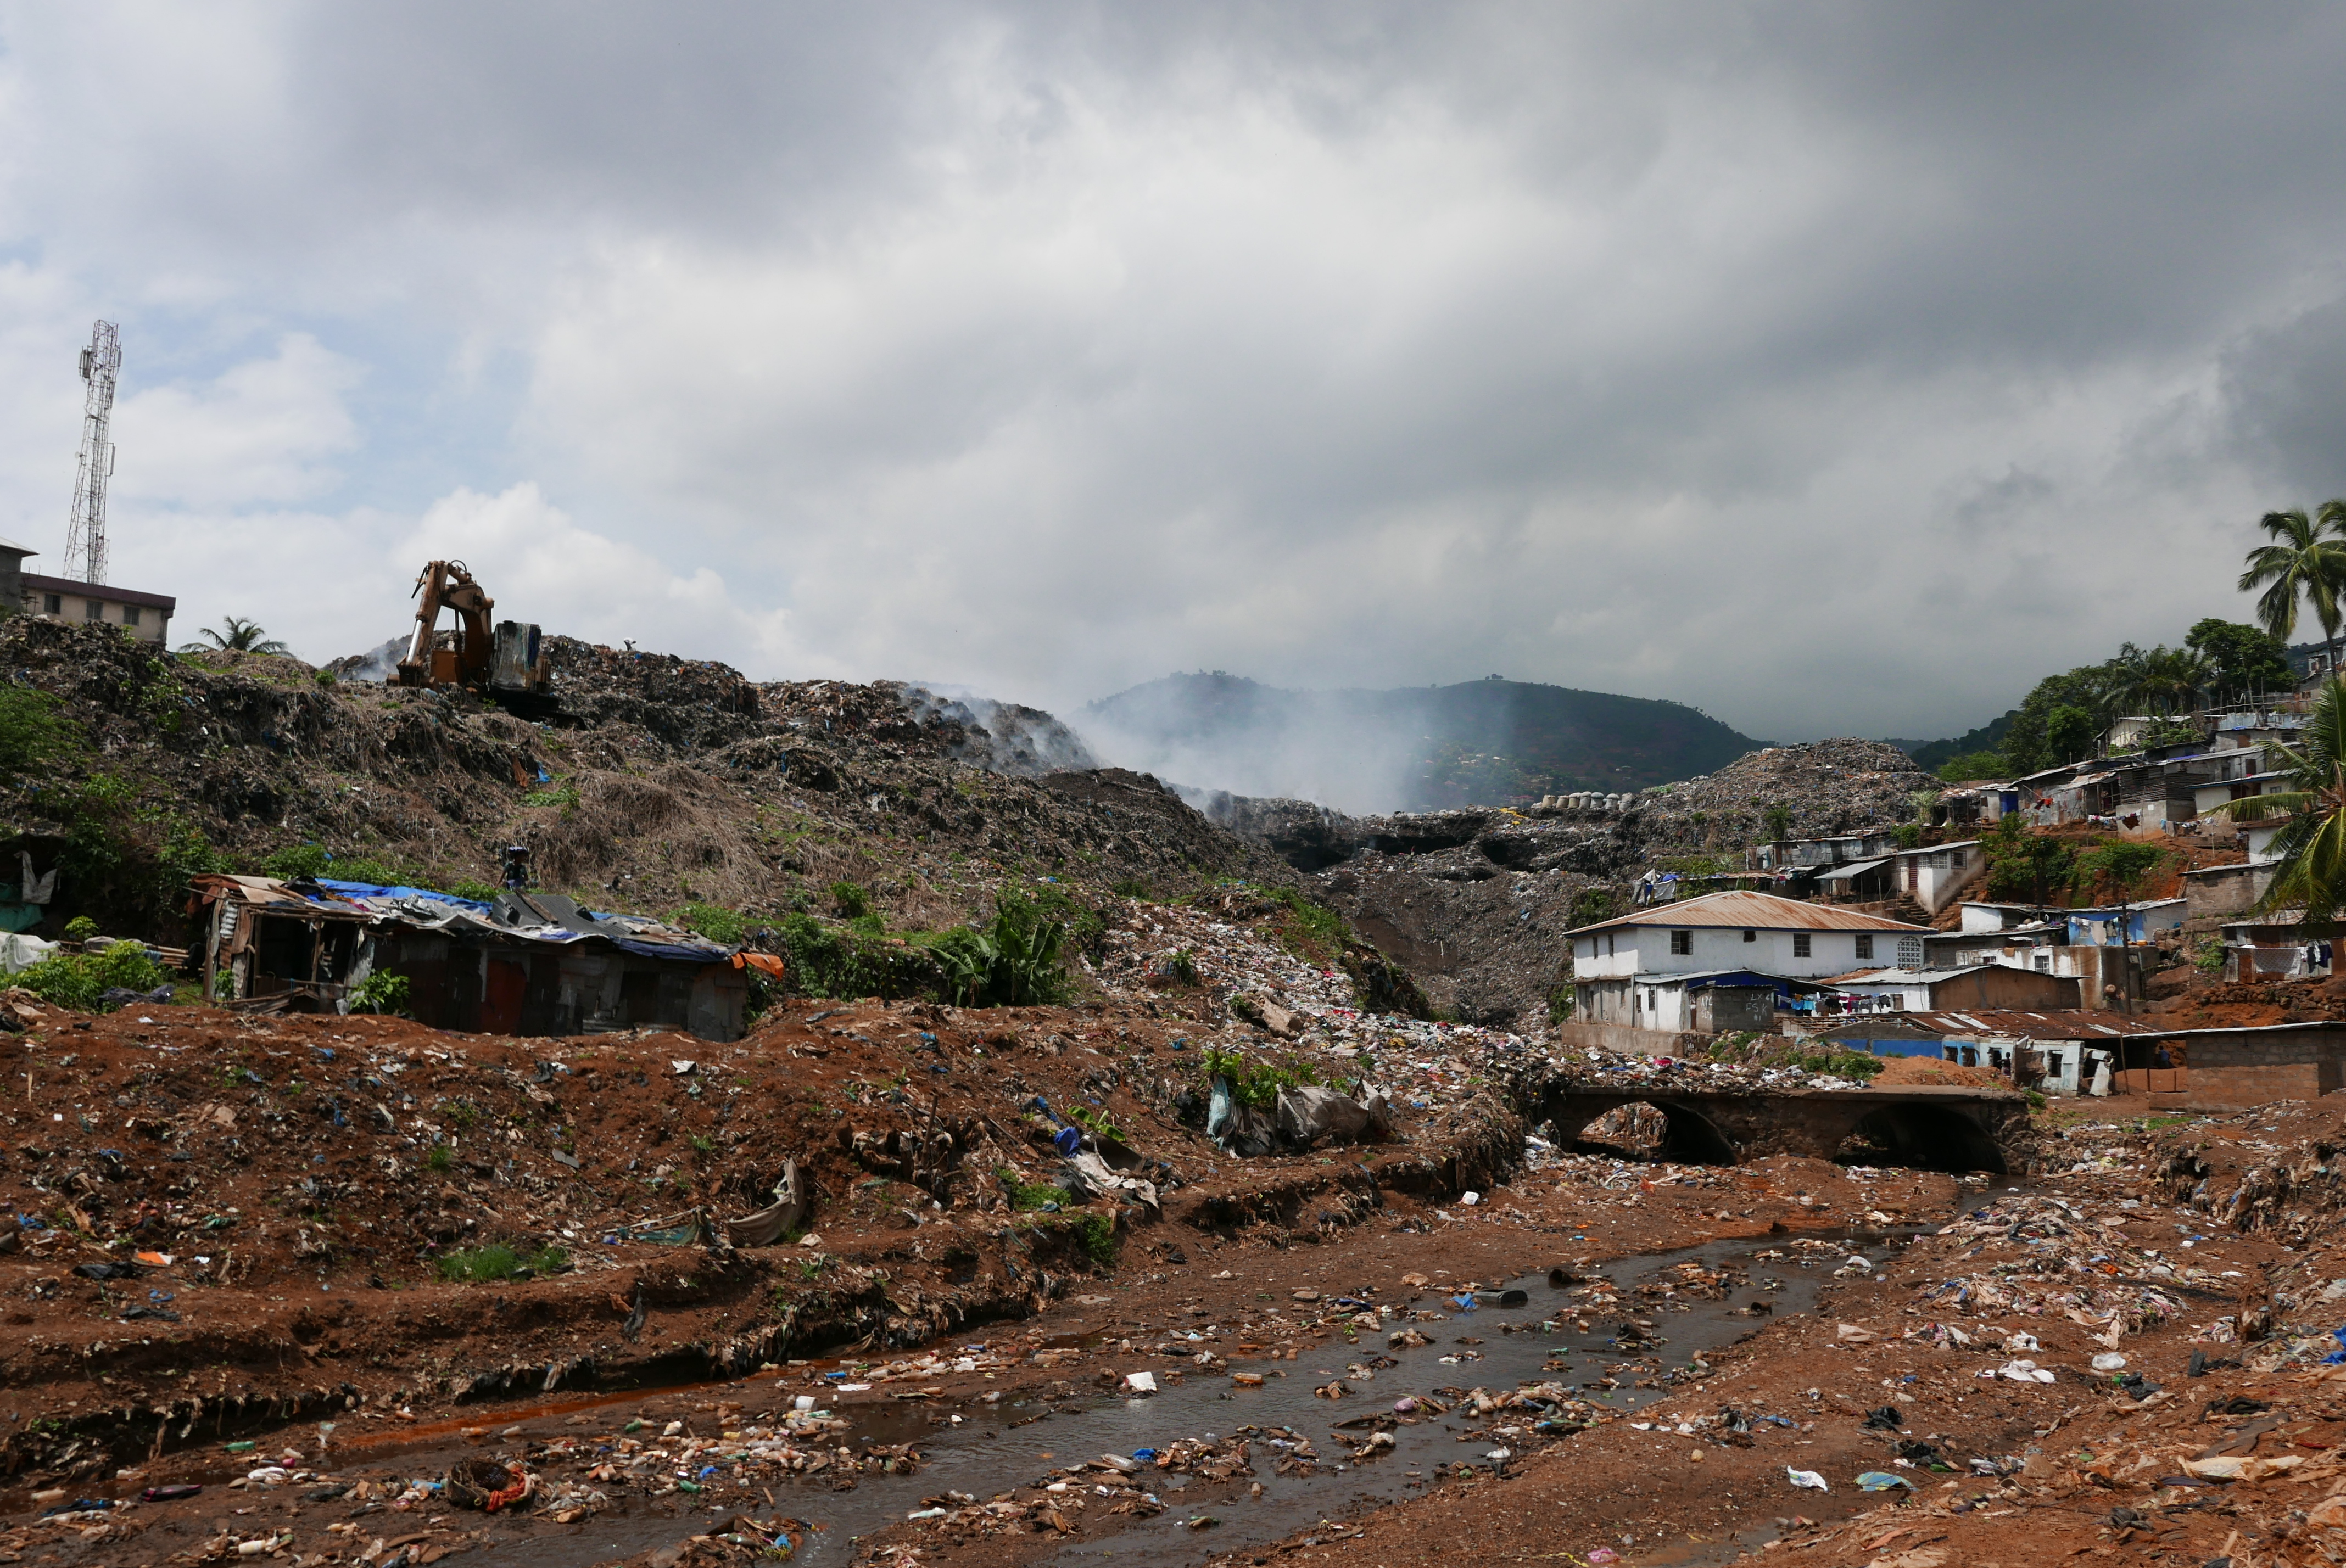
M2334 5L0 5L0 532L758 677L1950 734L2346 492Z

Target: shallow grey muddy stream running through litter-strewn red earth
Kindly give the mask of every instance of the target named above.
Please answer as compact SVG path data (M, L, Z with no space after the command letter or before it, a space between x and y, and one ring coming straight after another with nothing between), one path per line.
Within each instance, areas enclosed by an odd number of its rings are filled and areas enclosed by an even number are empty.
M1103 1453L1128 1455L1135 1448L1161 1448L1180 1437L1232 1437L1239 1427L1293 1427L1309 1439L1321 1453L1318 1474L1276 1477L1272 1467L1283 1448L1267 1441L1262 1432L1253 1437L1255 1474L1250 1479L1262 1481L1262 1498L1246 1495L1248 1477L1239 1477L1236 1493L1232 1493L1225 1484L1192 1481L1180 1474L1143 1467L1140 1484L1150 1486L1154 1479L1154 1493L1166 1505L1164 1514L1126 1523L1126 1528L1103 1535L1098 1542L1067 1542L1049 1559L1042 1552L1053 1542L1044 1538L1035 1540L1037 1561L1084 1563L1114 1556L1119 1566L1194 1563L1215 1552L1281 1540L1323 1519L1342 1519L1382 1502L1401 1500L1410 1493L1410 1484L1429 1479L1436 1465L1462 1460L1487 1465L1487 1453L1494 1446L1523 1453L1527 1446L1539 1446L1541 1441L1530 1432L1532 1420L1537 1420L1530 1413L1508 1411L1490 1420L1471 1420L1452 1413L1396 1427L1394 1448L1377 1458L1361 1465L1337 1463L1347 1451L1340 1446L1337 1434L1330 1432L1333 1423L1391 1411L1394 1402L1405 1395L1469 1388L1504 1392L1518 1383L1555 1380L1577 1397L1616 1411L1640 1411L1656 1402L1689 1413L1715 1409L1720 1395L1699 1392L1684 1383L1666 1383L1668 1373L1682 1371L1689 1359L1731 1345L1764 1327L1767 1317L1755 1317L1748 1310L1752 1301L1767 1301L1776 1315L1811 1310L1820 1284L1830 1280L1832 1270L1851 1252L1863 1252L1881 1263L1905 1245L1905 1235L1879 1230L1811 1233L1802 1240L1811 1245L1795 1245L1792 1238L1743 1238L1675 1252L1638 1254L1591 1268L1581 1275L1581 1284L1607 1280L1621 1296L1616 1305L1595 1310L1572 1310L1591 1291L1551 1287L1546 1273L1511 1282L1511 1289L1520 1289L1527 1296L1525 1305L1518 1308L1480 1303L1473 1310L1459 1310L1447 1296L1431 1296L1419 1305L1447 1313L1447 1322L1410 1324L1431 1341L1429 1345L1386 1352L1384 1331L1375 1331L1363 1334L1358 1345L1330 1341L1307 1348L1295 1362L1234 1364L1234 1371L1262 1371L1262 1388L1234 1388L1227 1373L1203 1373L1199 1369L1187 1369L1189 1376L1182 1383L1168 1383L1164 1369L1185 1369L1185 1362L1140 1355L1135 1350L1103 1359L1119 1373L1157 1369L1161 1392L1131 1399L1086 1395L1089 1404L1079 1413L1067 1413L1070 1402L1053 1406L1039 1397L1002 1404L983 1404L978 1399L957 1404L845 1404L838 1413L854 1423L852 1434L845 1439L847 1444L913 1441L924 1455L920 1472L903 1479L866 1474L859 1477L854 1491L830 1491L823 1481L777 1484L772 1488L774 1505L765 1507L762 1498L758 1498L758 1505L748 1507L746 1516L784 1516L812 1523L812 1530L791 1528L798 1542L798 1561L845 1563L854 1552L854 1538L901 1521L908 1512L922 1507L922 1498L927 1495L962 1491L985 1500L1013 1486L1053 1479L1051 1472L1060 1465L1084 1465ZM1830 1242L1830 1247L1813 1242ZM1724 1268L1738 1282L1717 1298L1689 1298L1684 1291L1668 1298L1638 1294L1640 1284L1680 1284L1677 1270L1687 1263L1699 1263L1706 1273ZM1619 1329L1640 1317L1654 1324L1649 1334L1656 1341L1645 1345L1616 1343ZM1386 1329L1403 1322L1403 1317L1389 1317ZM1544 1322L1553 1324L1553 1329L1544 1329ZM1581 1331L1579 1322L1588 1322L1591 1329ZM1457 1343L1462 1336L1480 1343ZM1091 1343L1114 1343L1117 1338L1100 1336ZM1185 1334L1175 1338L1182 1345L1189 1343ZM1227 1338L1236 1336L1229 1334ZM1135 1348L1161 1345L1166 1336L1135 1336L1133 1343ZM1213 1345L1201 1341L1196 1348L1208 1350ZM1365 1364L1379 1352L1391 1355L1398 1364L1372 1371L1368 1380L1354 1378L1351 1390L1356 1397L1340 1402L1314 1397L1314 1385L1342 1378L1349 1362ZM1551 1362L1562 1366L1553 1366ZM1595 1385L1602 1378L1614 1378L1616 1388L1581 1388ZM340 1453L340 1460L345 1465L357 1460L357 1465L368 1470L392 1465L404 1474L439 1477L455 1458L483 1451L479 1446L483 1427L495 1434L488 1439L495 1448L518 1448L530 1437L579 1437L579 1427L563 1423L563 1416L570 1411L612 1404L645 1406L692 1392L723 1392L727 1399L755 1406L758 1383L765 1380L751 1378L744 1383L708 1385L706 1390L638 1390L608 1399L579 1399L561 1409L537 1411L521 1423L483 1416L467 1423L472 1434L411 1432L401 1434L396 1444L371 1441L366 1448L347 1448ZM1638 1383L1654 1383L1654 1388L1638 1388ZM786 1392L798 1392L798 1388L777 1388L774 1399L781 1402ZM931 1416L962 1416L962 1425L931 1425ZM1513 1416L1525 1416L1523 1437L1494 1434L1459 1441L1459 1434L1469 1427L1490 1427L1492 1423L1504 1427ZM504 1437L514 1425L521 1430L514 1437ZM1361 1430L1351 1437L1361 1441L1368 1432ZM1185 1493L1192 1486L1199 1502L1185 1502ZM1089 1481L1084 1491L1089 1493ZM753 1493L739 1495L753 1498ZM678 1502L685 1502L685 1498L615 1502L605 1514L568 1530L502 1540L495 1545L497 1561L570 1566L629 1556L647 1547L676 1542L683 1535L723 1528L720 1521L744 1514L741 1505L732 1502L683 1509L676 1507ZM1194 1528L1189 1521L1196 1516L1211 1516L1218 1523Z

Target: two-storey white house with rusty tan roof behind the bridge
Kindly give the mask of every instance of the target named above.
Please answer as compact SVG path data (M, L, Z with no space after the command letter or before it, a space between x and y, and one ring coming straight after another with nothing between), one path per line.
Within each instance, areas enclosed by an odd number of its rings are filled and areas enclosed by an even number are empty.
M1567 933L1574 1017L1691 1029L1689 977L1734 989L1886 963L1921 968L1924 935L1924 926L1774 893L1706 893Z

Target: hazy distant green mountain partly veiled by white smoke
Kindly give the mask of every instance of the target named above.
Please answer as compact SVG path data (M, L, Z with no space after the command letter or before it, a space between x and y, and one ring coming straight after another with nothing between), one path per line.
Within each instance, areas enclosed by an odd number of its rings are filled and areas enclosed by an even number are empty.
M1642 790L1760 745L1684 703L1497 675L1398 691L1288 691L1220 670L1166 675L1091 703L1082 729L1100 755L1168 783L1342 811Z

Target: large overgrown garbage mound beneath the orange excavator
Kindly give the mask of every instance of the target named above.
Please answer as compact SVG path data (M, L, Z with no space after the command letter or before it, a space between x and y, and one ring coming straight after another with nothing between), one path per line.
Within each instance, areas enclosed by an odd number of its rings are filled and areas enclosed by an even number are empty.
M985 919L1004 877L1161 895L1293 872L1154 778L1089 762L1032 710L896 682L774 682L551 638L551 705L528 717L462 691L324 680L284 656L167 656L91 626L19 616L0 661L103 759L117 820L103 877L61 886L56 919L174 940L178 867L260 870L314 844L427 886L497 879L535 851L542 886L589 907L687 902L755 919L833 914L854 881L891 921ZM5 799L19 830L89 834L80 764ZM167 888L167 893L157 893Z

